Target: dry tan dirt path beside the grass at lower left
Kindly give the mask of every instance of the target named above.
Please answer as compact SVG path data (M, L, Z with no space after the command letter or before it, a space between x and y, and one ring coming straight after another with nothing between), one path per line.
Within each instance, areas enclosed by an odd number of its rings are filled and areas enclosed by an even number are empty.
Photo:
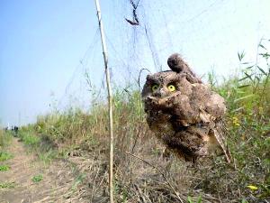
M88 202L81 198L74 166L67 161L53 161L49 166L27 152L14 138L8 152L13 159L0 162L10 170L0 171L0 203ZM33 181L34 176L42 180ZM3 186L5 183L6 187Z

